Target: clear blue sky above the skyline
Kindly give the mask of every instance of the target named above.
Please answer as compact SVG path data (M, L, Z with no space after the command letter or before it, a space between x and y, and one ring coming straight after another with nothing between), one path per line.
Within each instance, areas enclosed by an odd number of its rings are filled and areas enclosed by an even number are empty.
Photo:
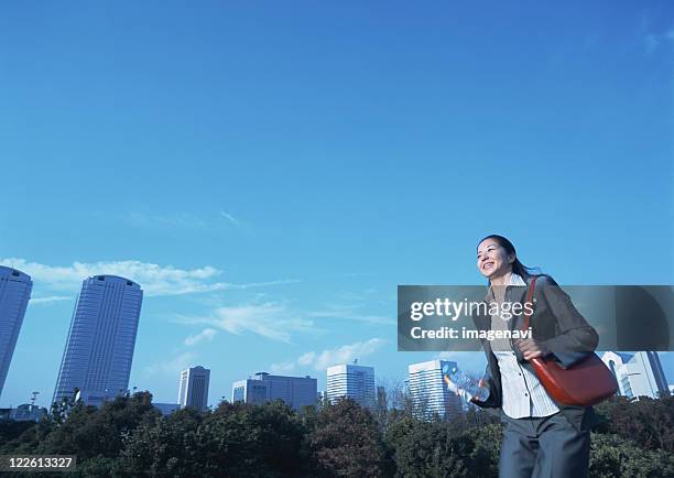
M403 380L434 356L395 286L482 283L493 231L563 284L674 283L673 54L665 1L3 4L0 260L35 284L0 404L51 399L87 274L145 289L130 387L203 365L211 403Z

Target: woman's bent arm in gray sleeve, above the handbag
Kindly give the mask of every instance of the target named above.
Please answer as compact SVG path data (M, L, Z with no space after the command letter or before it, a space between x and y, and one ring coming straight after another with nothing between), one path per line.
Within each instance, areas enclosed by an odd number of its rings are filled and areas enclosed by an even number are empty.
M539 297L545 301L557 319L558 329L557 336L541 344L564 368L570 367L597 348L599 336L554 280L541 276L536 284L540 284L536 287L541 291Z

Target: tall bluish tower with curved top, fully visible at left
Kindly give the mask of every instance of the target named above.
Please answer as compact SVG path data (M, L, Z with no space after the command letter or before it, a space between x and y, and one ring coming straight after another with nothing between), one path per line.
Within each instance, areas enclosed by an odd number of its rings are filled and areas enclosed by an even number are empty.
M142 302L140 285L128 279L95 275L83 281L54 402L77 398L100 406L127 392Z

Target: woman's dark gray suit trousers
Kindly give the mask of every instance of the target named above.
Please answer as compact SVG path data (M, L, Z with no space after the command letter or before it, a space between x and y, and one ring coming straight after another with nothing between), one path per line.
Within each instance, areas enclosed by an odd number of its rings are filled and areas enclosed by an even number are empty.
M511 419L506 425L499 478L586 478L589 431L576 430L557 412L551 416Z

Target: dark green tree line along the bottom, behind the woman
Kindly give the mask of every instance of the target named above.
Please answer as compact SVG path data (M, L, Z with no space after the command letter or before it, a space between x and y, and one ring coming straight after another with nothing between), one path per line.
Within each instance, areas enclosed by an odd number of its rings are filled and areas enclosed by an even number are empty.
M674 398L613 398L596 410L591 477L674 476ZM0 455L76 455L70 476L80 477L489 478L501 434L476 410L421 419L410 403L370 411L351 400L298 412L225 401L162 416L140 392L100 409L65 403L39 423L0 422Z

